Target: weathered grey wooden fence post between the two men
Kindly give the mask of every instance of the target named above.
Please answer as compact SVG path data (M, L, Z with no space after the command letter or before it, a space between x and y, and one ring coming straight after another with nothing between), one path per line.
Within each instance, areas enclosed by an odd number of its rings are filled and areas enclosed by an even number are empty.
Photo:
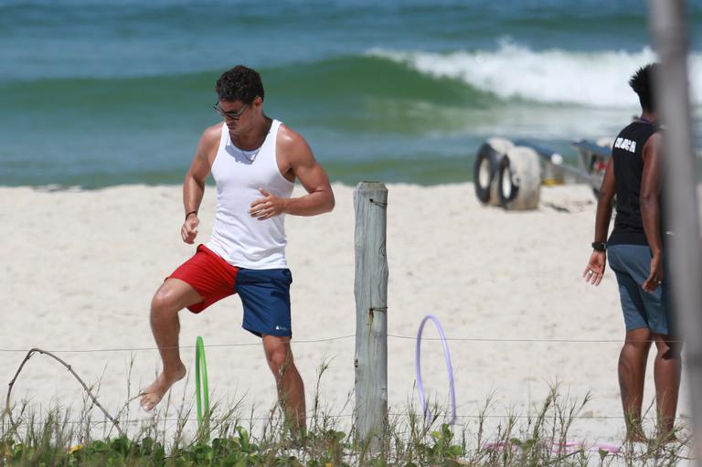
M388 427L388 188L361 182L356 211L356 443L383 449Z

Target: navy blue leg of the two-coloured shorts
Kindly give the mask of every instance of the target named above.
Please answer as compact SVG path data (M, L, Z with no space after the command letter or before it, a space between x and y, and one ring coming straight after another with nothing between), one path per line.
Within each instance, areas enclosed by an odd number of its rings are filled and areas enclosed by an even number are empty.
M234 290L244 307L241 326L252 334L292 336L289 269L249 270L239 268Z

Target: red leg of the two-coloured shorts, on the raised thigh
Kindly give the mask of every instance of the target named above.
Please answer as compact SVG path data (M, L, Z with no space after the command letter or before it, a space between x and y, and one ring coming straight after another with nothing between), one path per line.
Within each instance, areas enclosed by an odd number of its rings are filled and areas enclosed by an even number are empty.
M236 293L239 268L223 260L217 253L198 245L195 255L181 264L166 279L179 279L186 282L202 297L202 302L187 307L192 313L200 313L212 303Z

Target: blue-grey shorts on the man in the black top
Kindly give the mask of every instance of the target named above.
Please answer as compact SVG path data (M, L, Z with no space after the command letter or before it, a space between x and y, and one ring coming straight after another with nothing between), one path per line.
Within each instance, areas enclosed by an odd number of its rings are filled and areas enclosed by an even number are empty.
M647 327L656 334L672 335L667 283L664 281L654 292L642 288L651 271L651 249L644 245L612 245L607 256L617 276L626 330Z

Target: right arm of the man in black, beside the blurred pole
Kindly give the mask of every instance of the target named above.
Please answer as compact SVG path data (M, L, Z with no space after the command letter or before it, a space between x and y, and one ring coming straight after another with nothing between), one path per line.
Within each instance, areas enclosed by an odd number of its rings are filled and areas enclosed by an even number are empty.
M661 192L661 134L654 133L644 144L642 150L644 173L641 176L641 219L644 223L646 241L651 249L651 271L644 281L644 291L654 292L663 281L663 243L660 231L660 206L658 196Z

